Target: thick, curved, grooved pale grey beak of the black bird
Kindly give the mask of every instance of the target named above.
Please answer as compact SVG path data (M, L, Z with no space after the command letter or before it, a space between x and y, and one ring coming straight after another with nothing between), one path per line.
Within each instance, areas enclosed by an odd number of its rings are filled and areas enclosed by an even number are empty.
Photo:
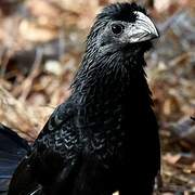
M159 32L151 21L142 12L135 11L136 20L135 23L131 24L128 30L128 39L130 43L143 42L159 37Z

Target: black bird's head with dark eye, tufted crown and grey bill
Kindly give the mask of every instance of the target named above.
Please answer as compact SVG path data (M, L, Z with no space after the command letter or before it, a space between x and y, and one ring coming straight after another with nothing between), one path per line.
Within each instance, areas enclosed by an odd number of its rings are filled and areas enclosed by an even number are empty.
M98 15L88 47L96 47L99 54L144 53L151 48L151 40L159 37L158 30L146 11L135 3L115 3Z

